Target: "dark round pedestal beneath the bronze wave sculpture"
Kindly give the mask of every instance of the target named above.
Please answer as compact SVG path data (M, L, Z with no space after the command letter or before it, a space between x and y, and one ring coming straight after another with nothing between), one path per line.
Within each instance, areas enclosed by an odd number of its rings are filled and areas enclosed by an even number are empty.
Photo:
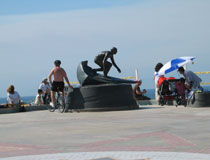
M138 105L130 84L101 84L76 89L69 108L112 111L138 109Z

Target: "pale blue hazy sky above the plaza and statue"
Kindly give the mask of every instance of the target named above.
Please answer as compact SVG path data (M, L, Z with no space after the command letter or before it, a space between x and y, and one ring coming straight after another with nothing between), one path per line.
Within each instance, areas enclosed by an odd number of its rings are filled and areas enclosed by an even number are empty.
M70 81L101 51L118 48L110 76L135 76L154 88L158 62L195 56L193 71L209 71L209 0L0 0L0 97L13 84L36 95L60 59ZM174 76L178 76L175 71Z

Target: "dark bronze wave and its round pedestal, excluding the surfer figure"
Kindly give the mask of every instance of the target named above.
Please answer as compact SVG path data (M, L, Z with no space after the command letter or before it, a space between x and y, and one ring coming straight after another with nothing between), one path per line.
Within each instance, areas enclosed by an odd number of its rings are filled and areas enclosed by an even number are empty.
M77 67L77 78L81 87L69 94L69 109L84 110L127 110L137 109L133 96L132 83L136 81L115 77L104 77L88 66L88 61L81 62Z

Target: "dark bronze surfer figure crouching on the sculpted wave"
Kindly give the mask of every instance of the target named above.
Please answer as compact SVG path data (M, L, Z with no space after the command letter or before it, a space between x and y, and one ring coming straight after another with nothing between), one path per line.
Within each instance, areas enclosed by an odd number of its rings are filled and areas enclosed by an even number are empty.
M104 76L107 77L109 70L112 67L112 64L115 68L117 68L117 71L120 73L120 68L116 65L114 61L114 55L117 54L117 48L113 47L110 51L102 51L99 55L95 57L94 62L100 66L98 69L93 69L94 72L97 71L103 71ZM108 62L108 59L111 59L111 62Z

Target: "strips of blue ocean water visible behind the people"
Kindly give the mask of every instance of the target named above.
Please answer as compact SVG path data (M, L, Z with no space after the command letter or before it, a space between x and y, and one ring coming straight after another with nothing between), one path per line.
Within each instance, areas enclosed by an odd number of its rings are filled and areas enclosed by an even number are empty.
M210 86L203 86L204 91L210 91ZM147 93L145 96L155 99L155 89L147 89ZM35 99L35 96L25 96L21 97L21 100L25 103L32 103ZM0 98L0 104L5 104L6 103L6 98Z

